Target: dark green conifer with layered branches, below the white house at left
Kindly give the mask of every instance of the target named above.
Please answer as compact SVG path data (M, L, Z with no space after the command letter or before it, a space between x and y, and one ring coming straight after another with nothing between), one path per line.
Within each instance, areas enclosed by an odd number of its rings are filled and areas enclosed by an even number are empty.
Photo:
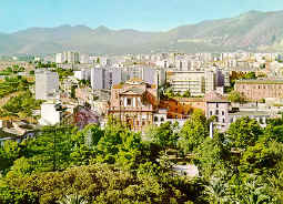
M32 163L36 172L64 170L71 163L73 131L72 126L44 126L34 139L24 141L23 156Z

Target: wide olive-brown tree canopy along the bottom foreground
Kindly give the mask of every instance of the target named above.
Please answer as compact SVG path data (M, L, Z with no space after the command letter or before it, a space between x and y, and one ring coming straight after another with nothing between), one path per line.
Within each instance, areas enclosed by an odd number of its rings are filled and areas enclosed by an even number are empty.
M156 175L151 171L135 174L114 165L94 164L6 182L11 188L37 195L40 203L58 203L72 195L83 197L87 203L184 203L198 192L191 181L179 176L169 178L154 164L143 167L154 169Z

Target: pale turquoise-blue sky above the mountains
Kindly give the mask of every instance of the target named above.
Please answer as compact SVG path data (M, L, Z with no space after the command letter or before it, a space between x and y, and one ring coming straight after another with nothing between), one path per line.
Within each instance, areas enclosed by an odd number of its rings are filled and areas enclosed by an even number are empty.
M62 24L166 31L250 10L283 10L282 0L1 0L0 32Z

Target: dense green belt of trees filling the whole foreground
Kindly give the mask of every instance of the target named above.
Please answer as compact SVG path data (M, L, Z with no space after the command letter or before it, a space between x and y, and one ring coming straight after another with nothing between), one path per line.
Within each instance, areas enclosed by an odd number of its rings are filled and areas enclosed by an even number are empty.
M242 118L213 139L209 123L194 112L182 129L164 123L143 141L110 119L104 129L47 126L6 142L0 203L282 203L283 120L263 129ZM169 150L190 154L200 176L174 172Z

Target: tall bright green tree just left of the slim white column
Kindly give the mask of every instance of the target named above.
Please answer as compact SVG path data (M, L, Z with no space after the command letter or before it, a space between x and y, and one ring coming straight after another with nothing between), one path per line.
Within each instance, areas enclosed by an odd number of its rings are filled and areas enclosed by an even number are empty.
M184 152L196 149L209 135L209 123L202 111L194 111L180 131L179 146Z

